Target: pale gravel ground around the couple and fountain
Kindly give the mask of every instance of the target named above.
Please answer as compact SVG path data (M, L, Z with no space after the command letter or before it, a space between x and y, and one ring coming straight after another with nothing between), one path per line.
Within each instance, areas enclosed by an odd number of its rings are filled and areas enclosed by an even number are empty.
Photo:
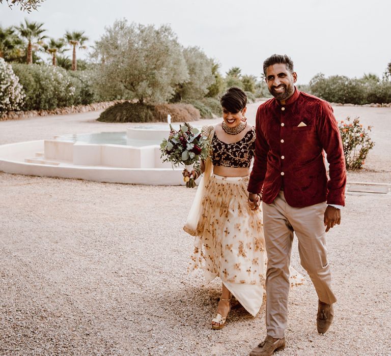
M391 109L362 109L390 128ZM0 143L128 126L95 117L0 122ZM390 181L390 165L381 165L390 160L387 144L379 140L362 180ZM192 239L181 227L194 194L0 172L0 354L248 354L265 335L264 306L257 318L235 309L226 328L213 331L219 281L186 276ZM327 234L334 323L317 334L306 276L290 293L288 346L279 355L391 354L390 211L391 194L347 195L342 225ZM293 251L292 265L305 275L297 245Z

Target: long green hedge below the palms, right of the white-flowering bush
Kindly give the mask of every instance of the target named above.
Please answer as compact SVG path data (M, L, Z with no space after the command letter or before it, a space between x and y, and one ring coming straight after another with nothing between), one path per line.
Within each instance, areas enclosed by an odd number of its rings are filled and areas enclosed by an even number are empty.
M12 64L26 94L23 110L50 110L58 107L90 104L88 73L38 64Z

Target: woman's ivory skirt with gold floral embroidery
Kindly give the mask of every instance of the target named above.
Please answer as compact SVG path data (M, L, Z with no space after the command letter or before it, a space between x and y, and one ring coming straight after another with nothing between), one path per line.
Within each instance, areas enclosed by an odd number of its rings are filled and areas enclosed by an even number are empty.
M247 203L248 176L210 177L202 200L188 271L202 268L215 277L252 315L261 308L266 275L262 212Z

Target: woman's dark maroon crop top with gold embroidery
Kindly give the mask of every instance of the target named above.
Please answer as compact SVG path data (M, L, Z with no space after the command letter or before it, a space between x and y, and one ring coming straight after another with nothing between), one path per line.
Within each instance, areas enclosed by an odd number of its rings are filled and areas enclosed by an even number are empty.
M249 168L255 152L255 127L233 143L225 143L214 133L211 143L211 159L214 166Z

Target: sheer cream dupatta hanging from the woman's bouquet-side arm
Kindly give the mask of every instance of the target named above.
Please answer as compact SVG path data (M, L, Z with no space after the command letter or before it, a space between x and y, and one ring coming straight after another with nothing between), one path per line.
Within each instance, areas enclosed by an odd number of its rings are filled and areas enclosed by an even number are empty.
M210 126L208 127L208 129L210 130L208 138L209 141L211 142L214 135L214 127ZM197 192L195 193L195 197L193 203L191 204L189 214L187 215L186 223L183 226L183 230L185 230L187 233L189 233L192 236L197 235L197 225L198 222L200 221L200 217L202 213L202 199L204 198L205 188L208 185L212 171L213 171L213 163L209 155L205 162L204 174L201 177L201 181L198 185Z

